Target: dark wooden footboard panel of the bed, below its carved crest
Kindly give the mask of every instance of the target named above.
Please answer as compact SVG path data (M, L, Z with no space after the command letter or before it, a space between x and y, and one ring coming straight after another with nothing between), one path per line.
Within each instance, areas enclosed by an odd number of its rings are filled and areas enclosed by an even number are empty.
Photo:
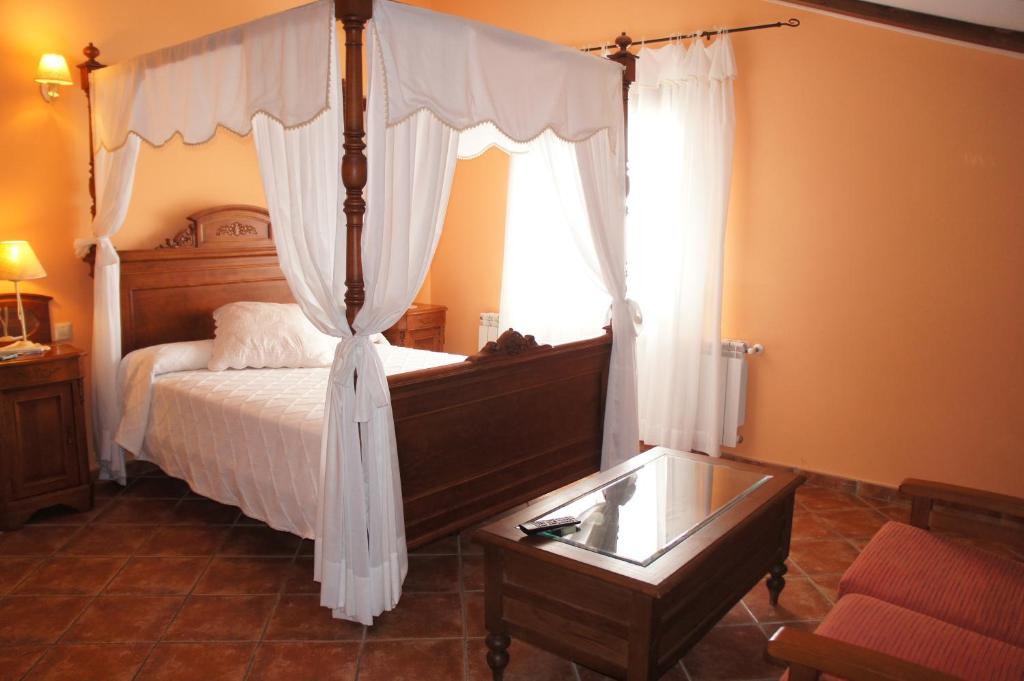
M390 377L410 548L598 470L610 353L607 333Z

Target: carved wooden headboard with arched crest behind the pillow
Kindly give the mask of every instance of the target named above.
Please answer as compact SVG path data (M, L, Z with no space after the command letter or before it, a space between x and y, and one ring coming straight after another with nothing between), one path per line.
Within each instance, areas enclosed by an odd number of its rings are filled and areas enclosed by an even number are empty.
M295 302L266 209L219 206L153 250L120 251L121 347L213 338L213 310L242 300Z

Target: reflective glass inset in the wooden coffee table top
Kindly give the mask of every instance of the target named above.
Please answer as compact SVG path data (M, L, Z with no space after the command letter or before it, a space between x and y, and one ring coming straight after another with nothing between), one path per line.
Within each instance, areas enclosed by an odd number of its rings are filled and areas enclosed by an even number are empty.
M535 518L575 516L580 524L543 536L649 565L771 479L728 464L665 454Z

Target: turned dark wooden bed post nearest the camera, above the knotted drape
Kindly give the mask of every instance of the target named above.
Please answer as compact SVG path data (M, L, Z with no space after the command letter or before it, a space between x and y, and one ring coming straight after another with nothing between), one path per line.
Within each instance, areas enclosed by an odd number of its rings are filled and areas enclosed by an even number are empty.
M341 160L341 181L345 184L345 316L348 324L366 300L362 286L362 216L367 202L366 132L362 128L362 31L373 16L372 0L336 0L335 16L345 29L345 79L343 107L345 117L345 155Z

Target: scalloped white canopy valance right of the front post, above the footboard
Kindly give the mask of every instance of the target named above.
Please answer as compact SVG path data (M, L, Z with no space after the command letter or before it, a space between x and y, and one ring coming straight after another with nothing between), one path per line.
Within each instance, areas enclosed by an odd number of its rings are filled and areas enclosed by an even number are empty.
M372 33L388 125L428 110L455 130L490 122L526 142L549 128L582 141L622 121L613 61L394 2L374 3Z

